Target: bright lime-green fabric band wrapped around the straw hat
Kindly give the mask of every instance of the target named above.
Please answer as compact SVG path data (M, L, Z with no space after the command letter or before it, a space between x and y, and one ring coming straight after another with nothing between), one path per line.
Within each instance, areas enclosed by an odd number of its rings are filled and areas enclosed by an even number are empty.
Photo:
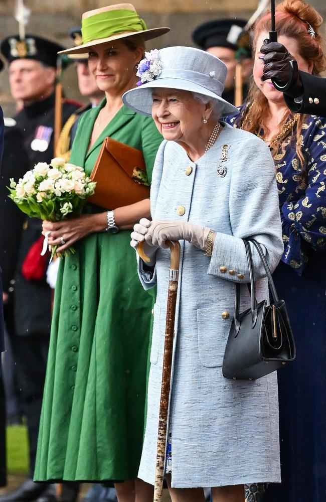
M143 30L146 30L145 22L129 9L100 12L82 20L83 44L117 33Z

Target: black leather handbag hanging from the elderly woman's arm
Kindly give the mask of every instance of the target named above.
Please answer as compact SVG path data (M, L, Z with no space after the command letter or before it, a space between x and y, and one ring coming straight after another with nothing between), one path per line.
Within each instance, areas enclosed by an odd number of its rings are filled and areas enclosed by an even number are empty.
M256 380L295 358L295 344L284 300L279 300L273 279L254 239L243 239L249 265L251 307L240 310L240 284L235 285L234 319L223 359L223 376L233 380ZM257 304L253 261L249 242L256 247L266 271L273 303Z

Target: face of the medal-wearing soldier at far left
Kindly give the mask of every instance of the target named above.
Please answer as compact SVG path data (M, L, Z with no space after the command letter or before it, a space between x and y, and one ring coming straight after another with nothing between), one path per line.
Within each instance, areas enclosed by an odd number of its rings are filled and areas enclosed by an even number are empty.
M16 59L10 63L9 84L15 100L33 103L54 91L56 70L34 59Z

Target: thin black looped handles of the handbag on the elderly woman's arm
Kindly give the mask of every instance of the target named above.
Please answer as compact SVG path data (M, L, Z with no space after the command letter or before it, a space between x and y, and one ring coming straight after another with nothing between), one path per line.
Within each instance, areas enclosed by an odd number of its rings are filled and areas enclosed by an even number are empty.
M248 267L249 267L249 279L250 279L250 298L251 298L251 317L252 317L252 325L251 327L254 328L256 321L257 321L257 298L256 298L256 284L255 284L255 272L254 272L254 267L253 267L253 260L252 260L252 253L251 253L251 248L249 242L252 242L255 248L257 249L257 253L259 255L259 258L261 259L261 262L263 264L263 267L266 272L268 284L272 293L272 297L274 302L278 302L278 296L276 292L276 288L274 285L274 281L272 279L272 275L270 273L269 267L267 260L265 258L264 253L262 252L261 246L259 242L255 239L252 238L247 238L243 239L245 248L246 248L246 254L247 254L247 260L248 260ZM235 333L236 336L240 330L240 284L236 283L235 285L235 302L234 302L234 327L235 327Z

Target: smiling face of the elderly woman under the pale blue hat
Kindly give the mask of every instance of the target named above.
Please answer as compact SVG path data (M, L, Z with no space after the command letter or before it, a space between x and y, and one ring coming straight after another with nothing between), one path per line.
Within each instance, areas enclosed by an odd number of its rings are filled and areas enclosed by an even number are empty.
M192 92L157 88L152 93L151 115L165 140L191 144L210 114L209 106L194 99Z

